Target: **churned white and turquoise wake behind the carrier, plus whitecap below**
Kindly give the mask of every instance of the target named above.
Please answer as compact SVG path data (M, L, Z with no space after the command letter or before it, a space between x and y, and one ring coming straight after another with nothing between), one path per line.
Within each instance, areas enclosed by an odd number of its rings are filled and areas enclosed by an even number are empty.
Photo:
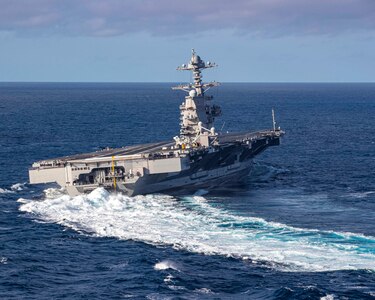
M20 210L98 237L236 257L283 271L375 270L375 238L295 228L243 217L202 196L127 197L98 188L69 197L49 191L42 201L20 200ZM156 269L171 267L161 262Z

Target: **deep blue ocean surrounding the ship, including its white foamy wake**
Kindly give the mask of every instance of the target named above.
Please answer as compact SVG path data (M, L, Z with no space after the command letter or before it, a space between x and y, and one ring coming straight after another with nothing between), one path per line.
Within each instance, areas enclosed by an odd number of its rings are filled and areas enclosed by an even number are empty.
M272 127L247 184L181 197L28 184L44 158L169 139L168 83L0 83L1 299L375 299L375 84L225 84Z

